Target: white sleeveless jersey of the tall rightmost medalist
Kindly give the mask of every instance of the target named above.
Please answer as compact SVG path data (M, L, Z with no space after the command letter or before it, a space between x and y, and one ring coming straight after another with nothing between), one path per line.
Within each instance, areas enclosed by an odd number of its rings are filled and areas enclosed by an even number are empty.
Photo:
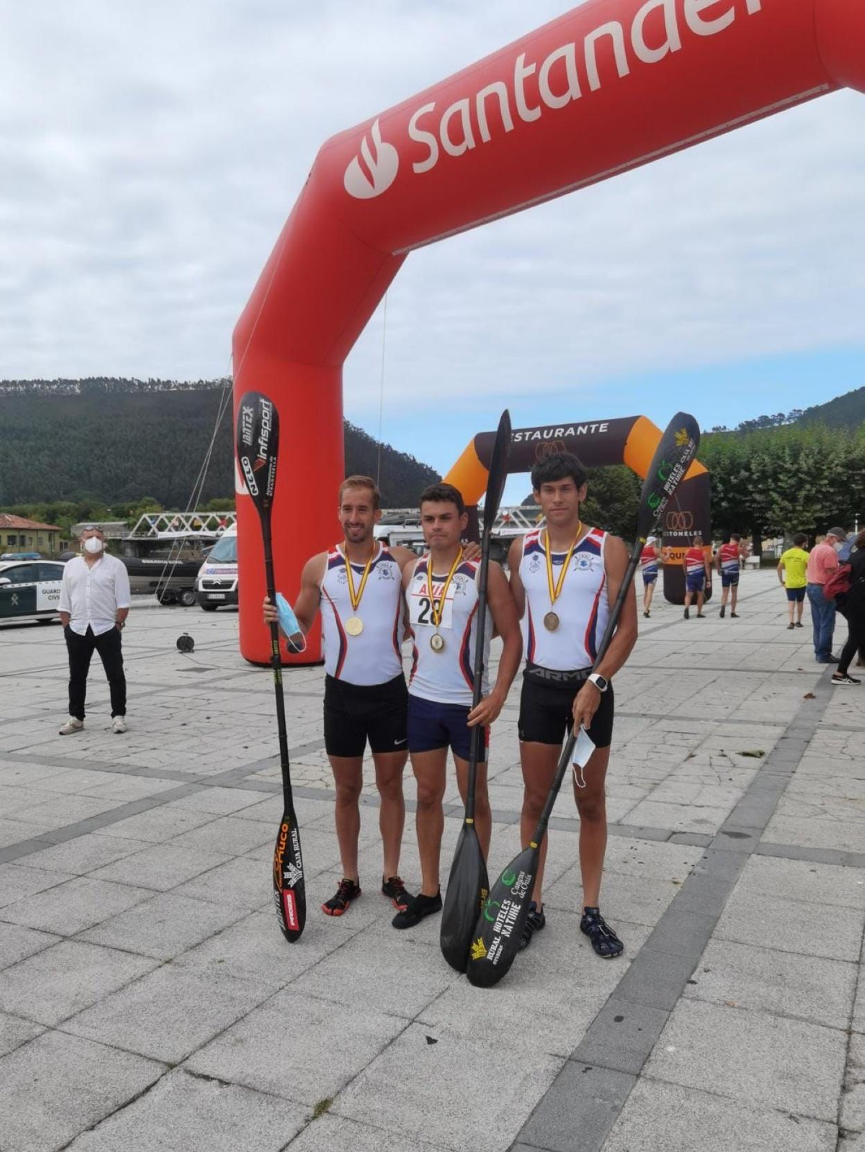
M523 538L519 579L525 589L525 613L521 622L525 658L530 664L556 672L587 668L594 664L609 620L604 569L607 533L592 528L577 544L555 604L549 599L545 539L544 529L528 532ZM567 554L552 554L554 586ZM559 627L554 632L544 627L544 616L548 612L559 616Z

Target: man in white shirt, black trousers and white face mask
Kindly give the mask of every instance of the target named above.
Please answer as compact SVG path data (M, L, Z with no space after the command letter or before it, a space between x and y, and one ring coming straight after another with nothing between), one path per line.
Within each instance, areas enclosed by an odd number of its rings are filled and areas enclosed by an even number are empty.
M60 735L84 727L84 698L93 652L99 653L111 688L112 732L127 730L127 682L120 634L129 615L129 573L105 551L105 536L92 524L81 533L81 555L68 561L60 588L60 621L69 652L69 719Z

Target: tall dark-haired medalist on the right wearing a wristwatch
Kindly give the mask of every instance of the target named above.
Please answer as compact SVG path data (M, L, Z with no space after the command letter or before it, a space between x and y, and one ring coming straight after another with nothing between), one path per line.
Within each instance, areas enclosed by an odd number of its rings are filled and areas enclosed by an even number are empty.
M605 780L613 736L613 675L637 638L637 608L629 593L613 641L597 674L591 673L609 613L619 594L628 551L617 537L584 525L585 469L576 456L548 456L532 469L534 499L546 526L510 547L510 586L522 616L526 666L519 700L519 759L525 793L521 833L531 843L561 753L572 726L586 728L595 745L575 779L583 873L582 931L599 956L619 956L624 946L600 914L599 895L607 846ZM546 924L542 903L546 838L521 947Z

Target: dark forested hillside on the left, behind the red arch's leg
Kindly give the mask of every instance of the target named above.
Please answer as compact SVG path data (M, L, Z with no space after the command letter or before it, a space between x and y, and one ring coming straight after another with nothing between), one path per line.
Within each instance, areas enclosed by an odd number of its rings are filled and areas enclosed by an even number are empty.
M184 508L213 433L227 381L0 381L0 507L153 497ZM346 423L348 472L377 475L379 445ZM199 503L234 493L230 411L222 419ZM381 447L386 507L408 507L439 477Z

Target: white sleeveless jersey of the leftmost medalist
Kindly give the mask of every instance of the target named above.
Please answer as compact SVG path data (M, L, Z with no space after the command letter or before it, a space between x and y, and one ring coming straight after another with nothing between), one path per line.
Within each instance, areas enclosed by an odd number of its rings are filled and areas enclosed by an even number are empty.
M355 591L365 564L351 564ZM361 604L355 612L346 560L339 545L327 553L321 581L325 672L349 684L385 684L402 673L402 573L389 548L379 544ZM349 636L346 621L359 616L364 630Z

